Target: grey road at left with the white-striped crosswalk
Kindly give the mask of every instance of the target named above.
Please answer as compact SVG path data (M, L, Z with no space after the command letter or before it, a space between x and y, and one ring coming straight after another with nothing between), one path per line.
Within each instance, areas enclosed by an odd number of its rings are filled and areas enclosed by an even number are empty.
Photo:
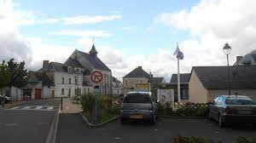
M21 106L59 106L59 100L32 100ZM57 109L0 110L0 142L45 142Z

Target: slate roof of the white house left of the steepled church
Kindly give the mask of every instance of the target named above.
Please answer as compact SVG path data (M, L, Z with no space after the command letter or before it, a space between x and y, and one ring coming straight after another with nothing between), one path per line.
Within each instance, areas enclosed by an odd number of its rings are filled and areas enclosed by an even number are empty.
M50 62L48 66L41 68L38 72L67 72L67 67L58 62Z

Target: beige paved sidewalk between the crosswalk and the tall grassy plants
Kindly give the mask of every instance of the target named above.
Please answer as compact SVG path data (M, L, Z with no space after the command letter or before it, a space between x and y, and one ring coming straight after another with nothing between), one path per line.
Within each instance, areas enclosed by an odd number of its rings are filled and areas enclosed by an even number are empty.
M63 108L61 113L79 113L82 112L82 106L80 104L73 103L75 100L69 98L63 98Z

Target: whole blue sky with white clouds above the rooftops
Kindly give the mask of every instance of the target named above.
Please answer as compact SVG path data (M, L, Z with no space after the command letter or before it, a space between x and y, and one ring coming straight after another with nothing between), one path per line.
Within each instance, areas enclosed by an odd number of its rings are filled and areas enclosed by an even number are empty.
M122 79L137 66L169 82L192 66L225 66L256 49L255 0L0 0L0 60L64 62L75 49L98 57Z

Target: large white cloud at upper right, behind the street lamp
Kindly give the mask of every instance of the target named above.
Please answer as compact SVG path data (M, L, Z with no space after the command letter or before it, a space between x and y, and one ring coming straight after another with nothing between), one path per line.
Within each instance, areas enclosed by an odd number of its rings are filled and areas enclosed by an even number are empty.
M191 38L181 42L185 67L225 65L222 51L230 43L231 63L236 55L256 49L256 1L201 0L190 9L164 12L157 17L160 23L177 30L189 31Z

